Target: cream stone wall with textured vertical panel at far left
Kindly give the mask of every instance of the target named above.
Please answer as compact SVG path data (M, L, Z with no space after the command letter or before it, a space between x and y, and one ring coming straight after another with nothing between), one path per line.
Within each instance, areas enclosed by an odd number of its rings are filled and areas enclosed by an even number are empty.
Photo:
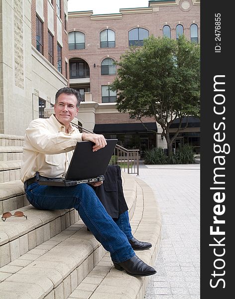
M1 1L0 133L23 135L31 110L31 0Z

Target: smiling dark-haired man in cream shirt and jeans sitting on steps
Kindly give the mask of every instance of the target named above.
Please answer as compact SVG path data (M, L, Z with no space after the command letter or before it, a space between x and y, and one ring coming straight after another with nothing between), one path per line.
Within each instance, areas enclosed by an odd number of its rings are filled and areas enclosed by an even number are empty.
M153 275L156 271L135 255L124 233L128 218L116 223L92 186L78 184L57 187L39 185L36 181L36 171L44 177L64 177L72 150L78 141L93 142L93 151L107 145L103 135L80 133L70 124L78 113L79 104L79 92L68 87L62 88L56 93L55 114L49 119L33 120L26 129L21 166L21 180L24 182L26 197L37 209L75 208L96 239L110 252L117 270L125 270L133 276ZM138 246L136 243L139 241L135 240L133 247ZM149 245L145 247L142 249L149 248Z

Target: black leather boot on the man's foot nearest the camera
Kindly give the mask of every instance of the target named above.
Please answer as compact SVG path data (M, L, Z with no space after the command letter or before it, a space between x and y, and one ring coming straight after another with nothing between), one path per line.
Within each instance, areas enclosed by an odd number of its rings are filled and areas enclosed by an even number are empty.
M114 267L119 271L125 270L131 276L149 276L156 273L155 269L145 264L137 256L122 263L114 263Z

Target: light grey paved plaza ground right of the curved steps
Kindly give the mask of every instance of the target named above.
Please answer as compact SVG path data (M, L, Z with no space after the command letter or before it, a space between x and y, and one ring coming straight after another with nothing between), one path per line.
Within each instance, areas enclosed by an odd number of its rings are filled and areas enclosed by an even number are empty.
M162 243L145 299L200 299L200 164L144 165L154 191Z

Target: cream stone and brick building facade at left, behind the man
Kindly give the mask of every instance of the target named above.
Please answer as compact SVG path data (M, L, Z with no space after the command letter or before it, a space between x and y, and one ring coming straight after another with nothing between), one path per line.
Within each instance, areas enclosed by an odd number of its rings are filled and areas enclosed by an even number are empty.
M0 133L24 135L68 86L68 0L0 1Z

